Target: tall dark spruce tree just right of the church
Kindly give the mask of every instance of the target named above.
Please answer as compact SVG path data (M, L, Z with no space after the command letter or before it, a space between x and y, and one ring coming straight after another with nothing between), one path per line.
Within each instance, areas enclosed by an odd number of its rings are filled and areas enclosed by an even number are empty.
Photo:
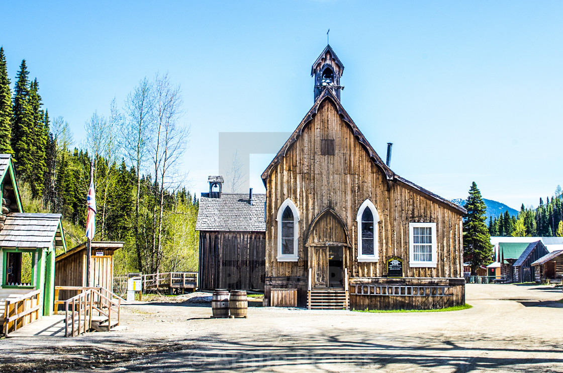
M463 207L467 210L463 219L463 260L470 264L471 274L475 275L477 268L491 263L493 257L493 245L485 224L487 207L475 181Z

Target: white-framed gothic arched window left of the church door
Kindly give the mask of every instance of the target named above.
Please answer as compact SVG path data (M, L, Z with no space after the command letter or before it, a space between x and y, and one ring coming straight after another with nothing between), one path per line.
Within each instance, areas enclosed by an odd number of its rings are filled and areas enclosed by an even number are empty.
M291 199L278 210L278 261L297 261L299 214Z

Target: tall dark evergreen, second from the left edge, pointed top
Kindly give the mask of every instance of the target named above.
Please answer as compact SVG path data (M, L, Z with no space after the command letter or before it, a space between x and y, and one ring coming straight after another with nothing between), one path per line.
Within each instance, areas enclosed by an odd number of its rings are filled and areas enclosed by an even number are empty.
M28 76L25 60L22 60L14 87L14 128L12 131L12 149L14 149L16 170L20 181L30 181L33 174L33 108L30 104Z

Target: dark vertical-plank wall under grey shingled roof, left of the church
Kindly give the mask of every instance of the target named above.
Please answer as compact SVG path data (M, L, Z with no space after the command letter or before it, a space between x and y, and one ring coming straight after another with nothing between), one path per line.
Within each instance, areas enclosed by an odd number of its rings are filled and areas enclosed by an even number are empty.
M265 232L199 232L203 289L264 290Z

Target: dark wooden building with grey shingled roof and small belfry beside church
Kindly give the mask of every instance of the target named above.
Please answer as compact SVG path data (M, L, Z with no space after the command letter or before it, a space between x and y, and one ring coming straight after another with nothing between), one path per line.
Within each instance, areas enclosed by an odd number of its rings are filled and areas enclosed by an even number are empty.
M222 176L209 176L199 199L199 288L264 290L265 194L222 193Z

